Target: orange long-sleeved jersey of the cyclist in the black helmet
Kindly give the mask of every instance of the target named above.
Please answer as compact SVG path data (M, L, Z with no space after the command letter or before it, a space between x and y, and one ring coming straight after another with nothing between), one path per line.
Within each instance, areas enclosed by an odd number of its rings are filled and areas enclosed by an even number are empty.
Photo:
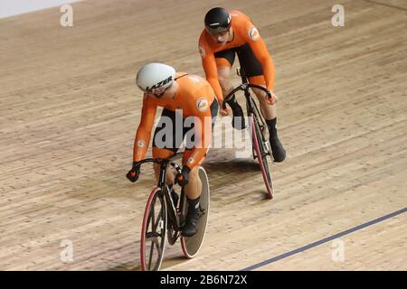
M201 33L201 37L199 38L199 51L201 53L206 79L211 83L216 97L220 102L223 100L223 95L218 80L214 57L214 53L218 51L229 50L249 43L251 50L263 68L267 89L272 90L274 86L274 64L266 44L260 37L259 31L254 24L251 23L251 19L246 14L242 14L237 10L231 11L229 14L232 16L232 42L226 42L224 45L218 44L206 30Z

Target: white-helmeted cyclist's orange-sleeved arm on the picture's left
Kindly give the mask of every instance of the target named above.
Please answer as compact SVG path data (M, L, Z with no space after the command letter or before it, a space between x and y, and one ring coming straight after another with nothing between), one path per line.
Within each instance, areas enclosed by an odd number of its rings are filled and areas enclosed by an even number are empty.
M147 153L148 144L151 137L151 129L156 117L156 104L150 98L145 97L141 110L140 125L137 128L136 138L133 147L133 161L138 162L144 159Z

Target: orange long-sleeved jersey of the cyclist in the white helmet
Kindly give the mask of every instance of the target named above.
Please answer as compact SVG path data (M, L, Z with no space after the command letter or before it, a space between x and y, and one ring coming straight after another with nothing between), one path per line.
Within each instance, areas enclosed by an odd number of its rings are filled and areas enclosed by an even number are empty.
M156 107L168 110L182 109L183 117L194 117L195 145L191 157L183 160L190 169L204 159L212 137L212 117L210 106L215 94L210 84L197 75L176 73L175 81L179 85L175 97L153 98L145 95L141 111L140 125L134 142L133 161L138 162L145 157L151 137L151 130L156 117ZM209 118L208 118L209 117ZM206 122L209 121L209 124ZM173 124L175 126L175 124Z

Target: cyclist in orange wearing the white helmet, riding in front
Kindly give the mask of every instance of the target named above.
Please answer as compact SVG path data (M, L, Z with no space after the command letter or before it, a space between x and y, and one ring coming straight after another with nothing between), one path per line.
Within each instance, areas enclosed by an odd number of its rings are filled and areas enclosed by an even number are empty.
M191 237L196 233L199 215L199 198L202 183L198 167L204 161L212 138L212 128L218 112L218 102L211 85L197 75L176 73L163 63L148 63L137 72L137 86L143 90L143 108L133 149L133 167L127 177L136 182L140 174L137 162L145 157L154 125L156 108L164 107L153 136L153 157L169 158L184 139L183 179L189 209L182 234ZM160 165L155 163L156 179ZM174 191L174 172L166 173L166 183L175 205L178 195Z

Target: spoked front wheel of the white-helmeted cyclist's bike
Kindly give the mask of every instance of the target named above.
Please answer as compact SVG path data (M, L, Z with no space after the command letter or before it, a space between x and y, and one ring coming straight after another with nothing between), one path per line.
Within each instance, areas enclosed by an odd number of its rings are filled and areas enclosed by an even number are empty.
M151 191L141 229L141 270L158 271L166 247L166 200L160 188Z

